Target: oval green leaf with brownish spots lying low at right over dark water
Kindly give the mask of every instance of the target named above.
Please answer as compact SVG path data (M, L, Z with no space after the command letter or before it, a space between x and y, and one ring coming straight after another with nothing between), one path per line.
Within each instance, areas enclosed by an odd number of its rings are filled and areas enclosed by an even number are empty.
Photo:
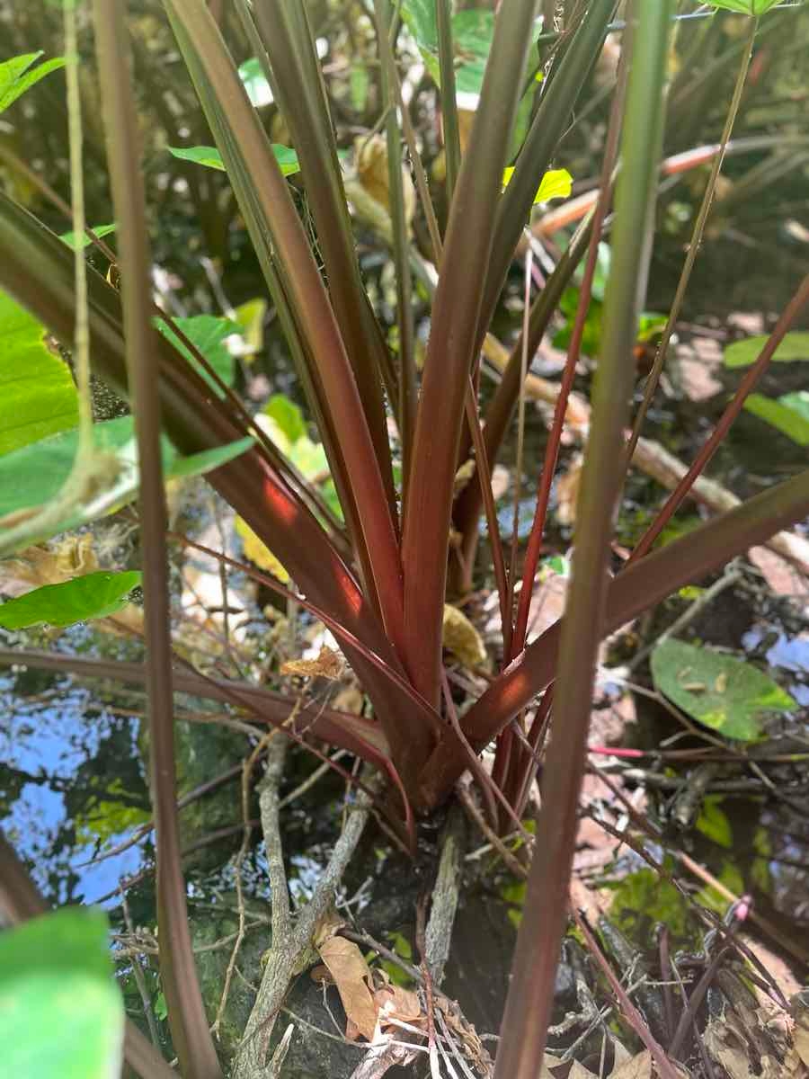
M767 712L797 708L789 693L752 664L683 641L657 645L652 678L673 704L726 738L752 741Z

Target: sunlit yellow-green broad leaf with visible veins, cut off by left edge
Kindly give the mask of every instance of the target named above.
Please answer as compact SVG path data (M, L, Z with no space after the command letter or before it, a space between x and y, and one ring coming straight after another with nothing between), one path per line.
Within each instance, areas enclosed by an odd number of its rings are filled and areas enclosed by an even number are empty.
M67 364L45 344L45 329L0 292L0 454L79 422Z

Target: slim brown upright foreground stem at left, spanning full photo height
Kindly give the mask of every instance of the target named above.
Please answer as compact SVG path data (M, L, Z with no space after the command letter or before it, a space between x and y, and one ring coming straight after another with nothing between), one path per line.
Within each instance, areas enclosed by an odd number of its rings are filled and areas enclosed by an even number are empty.
M124 5L95 0L93 15L99 77L105 83L104 129L123 267L126 368L140 473L149 775L157 849L157 921L162 930L160 972L181 1069L194 1079L220 1079L222 1070L194 961L180 857L159 356L151 322L151 254L125 10Z

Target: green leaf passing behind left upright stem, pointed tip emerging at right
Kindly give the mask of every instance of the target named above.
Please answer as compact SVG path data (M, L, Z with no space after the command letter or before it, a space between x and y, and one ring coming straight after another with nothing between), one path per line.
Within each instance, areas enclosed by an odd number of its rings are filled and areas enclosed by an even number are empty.
M132 416L124 415L97 423L93 427L93 435L96 448L110 457L109 487L100 491L92 503L73 509L57 522L49 535L97 520L132 502L138 492L137 446ZM70 475L78 437L78 428L73 427L0 457L0 519L18 509L44 505L58 494ZM243 438L229 446L219 446L214 450L183 457L163 437L163 473L166 479L202 476L244 453L250 446L252 439Z

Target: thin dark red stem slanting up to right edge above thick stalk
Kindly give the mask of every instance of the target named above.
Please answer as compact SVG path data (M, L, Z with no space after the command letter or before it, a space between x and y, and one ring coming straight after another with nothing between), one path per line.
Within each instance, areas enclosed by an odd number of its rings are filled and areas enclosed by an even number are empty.
M722 440L727 435L730 429L730 425L736 420L738 414L741 412L744 401L750 394L750 392L755 386L758 379L764 374L770 365L773 353L778 346L783 341L786 336L787 330L794 323L795 318L800 313L804 305L809 300L809 274L804 277L800 285L798 286L795 296L790 300L789 304L784 309L781 317L776 323L776 326L770 333L767 343L758 355L755 364L748 370L742 381L733 394L732 400L727 406L722 414L722 419L716 424L713 429L713 434L708 439L705 445L702 447L700 452L697 454L694 463L691 464L688 472L681 479L677 486L674 488L672 493L666 501L663 508L657 515L653 523L644 532L644 534L639 540L632 555L627 562L630 565L635 562L639 558L643 558L644 555L652 548L652 545L660 535L662 530L669 523L673 515L680 508L683 500L686 497L691 487L694 486L696 479L702 474L703 469L708 465L711 457L714 455L718 449Z

